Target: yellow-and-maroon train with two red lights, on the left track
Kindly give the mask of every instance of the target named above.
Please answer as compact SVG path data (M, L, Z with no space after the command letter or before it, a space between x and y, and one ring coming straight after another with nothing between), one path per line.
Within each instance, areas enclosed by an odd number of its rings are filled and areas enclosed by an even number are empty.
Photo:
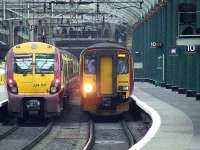
M52 45L28 42L14 46L6 60L9 112L18 118L58 115L78 71L78 60Z

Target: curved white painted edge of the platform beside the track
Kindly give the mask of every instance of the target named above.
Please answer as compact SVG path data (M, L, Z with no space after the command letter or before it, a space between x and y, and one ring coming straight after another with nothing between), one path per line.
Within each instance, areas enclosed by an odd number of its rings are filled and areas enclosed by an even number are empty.
M142 100L140 100L134 94L132 94L131 97L135 100L136 104L141 109L143 109L147 114L149 114L150 117L152 118L151 128L148 130L146 135L138 143L136 143L129 149L129 150L140 150L155 136L158 129L160 128L161 119L157 111L155 111L153 108L145 104Z

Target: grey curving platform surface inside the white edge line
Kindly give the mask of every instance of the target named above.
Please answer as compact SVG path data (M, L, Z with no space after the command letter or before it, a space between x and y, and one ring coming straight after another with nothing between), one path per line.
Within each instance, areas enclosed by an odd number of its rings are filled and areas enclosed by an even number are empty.
M199 150L200 102L156 87L136 82L134 95L160 115L160 128L143 150Z

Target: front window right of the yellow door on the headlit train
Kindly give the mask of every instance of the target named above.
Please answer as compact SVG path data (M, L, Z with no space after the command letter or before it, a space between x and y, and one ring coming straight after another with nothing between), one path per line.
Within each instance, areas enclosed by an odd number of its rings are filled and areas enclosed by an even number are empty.
M127 58L118 58L117 73L118 74L127 74L128 73L128 59Z

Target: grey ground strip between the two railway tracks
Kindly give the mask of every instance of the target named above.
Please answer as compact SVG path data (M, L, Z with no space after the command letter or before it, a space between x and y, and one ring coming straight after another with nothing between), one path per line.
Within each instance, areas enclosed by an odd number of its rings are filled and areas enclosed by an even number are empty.
M68 101L62 116L56 120L51 132L32 150L80 150L87 140L87 114L79 107L79 99Z

